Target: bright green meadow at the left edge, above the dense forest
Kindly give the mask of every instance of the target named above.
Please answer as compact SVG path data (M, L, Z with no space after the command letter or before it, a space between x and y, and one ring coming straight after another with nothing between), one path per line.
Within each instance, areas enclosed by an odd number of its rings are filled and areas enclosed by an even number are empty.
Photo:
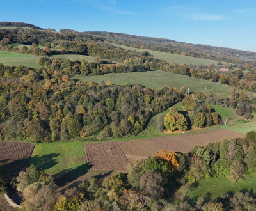
M29 54L17 54L14 52L0 51L0 63L9 66L29 66L33 68L40 67L36 64L36 59L40 56L34 56Z

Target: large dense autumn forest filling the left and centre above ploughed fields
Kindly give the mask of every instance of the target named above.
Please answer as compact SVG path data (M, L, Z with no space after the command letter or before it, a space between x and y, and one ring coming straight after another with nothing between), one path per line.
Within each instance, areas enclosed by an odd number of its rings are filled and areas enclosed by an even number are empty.
M90 63L81 65L86 71ZM44 67L0 66L1 75L7 75L0 88L0 133L6 140L134 136L144 129L146 118L183 97L168 87L151 90L141 85L111 85L110 81L75 83L65 74L68 66L52 72Z

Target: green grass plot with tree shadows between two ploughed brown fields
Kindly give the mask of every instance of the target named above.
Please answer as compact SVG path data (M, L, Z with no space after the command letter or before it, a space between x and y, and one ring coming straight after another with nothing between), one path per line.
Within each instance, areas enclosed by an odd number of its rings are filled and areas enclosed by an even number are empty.
M86 173L88 170L83 143L56 142L36 144L30 165L45 173Z

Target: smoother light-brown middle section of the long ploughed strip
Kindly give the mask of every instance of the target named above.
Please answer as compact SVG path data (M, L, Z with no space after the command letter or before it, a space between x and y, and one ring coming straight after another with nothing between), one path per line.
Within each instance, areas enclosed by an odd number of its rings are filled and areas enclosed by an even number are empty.
M147 159L148 156L154 155L159 150L168 151L168 148L159 145L153 139L129 140L118 142L118 145L131 163L140 158Z

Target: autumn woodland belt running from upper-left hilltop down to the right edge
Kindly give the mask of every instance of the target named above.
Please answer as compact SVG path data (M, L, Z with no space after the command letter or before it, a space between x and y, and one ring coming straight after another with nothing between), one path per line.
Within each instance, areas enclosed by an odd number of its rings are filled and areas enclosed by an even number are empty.
M125 65L140 65L140 70L164 70L214 82L220 81L222 84L227 83L230 86L236 86L243 90L255 92L254 75L256 63L253 61L246 62L239 60L237 61L237 64L222 64L220 62L219 65L209 66L179 65L177 63L168 64L166 61L154 59L147 51L127 51L120 47L104 43L102 42L102 38L95 35L84 33L55 33L52 31L24 28L1 29L0 40L1 51L19 52L45 57L54 54L81 54L95 56L100 58L98 59L98 61L101 61L100 63L102 63L102 59L107 59L109 61L118 61ZM11 42L29 44L31 47L24 46L20 47L20 49L17 47L14 48L12 45L9 45ZM44 46L44 49L40 49L38 45ZM45 62L45 65L49 67L49 59L45 58ZM40 62L40 65L44 64ZM55 67L56 65L53 65L52 68ZM229 68L233 71L223 74L219 71L220 67ZM253 71L244 74L243 70ZM83 71L80 71L71 73L70 75L77 74L84 73Z

